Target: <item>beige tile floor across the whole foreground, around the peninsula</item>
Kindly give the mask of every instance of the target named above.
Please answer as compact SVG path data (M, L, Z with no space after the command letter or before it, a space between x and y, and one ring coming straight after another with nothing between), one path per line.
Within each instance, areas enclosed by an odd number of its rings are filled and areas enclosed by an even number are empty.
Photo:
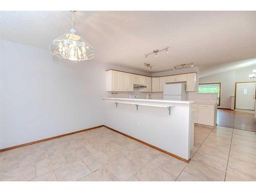
M256 134L196 126L185 163L100 127L0 153L0 181L256 181Z

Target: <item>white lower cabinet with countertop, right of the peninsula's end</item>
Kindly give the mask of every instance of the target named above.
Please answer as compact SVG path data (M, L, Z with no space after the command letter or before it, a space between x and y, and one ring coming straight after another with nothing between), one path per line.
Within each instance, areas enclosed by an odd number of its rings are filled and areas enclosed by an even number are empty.
M191 105L193 122L215 126L217 123L217 104L193 103Z

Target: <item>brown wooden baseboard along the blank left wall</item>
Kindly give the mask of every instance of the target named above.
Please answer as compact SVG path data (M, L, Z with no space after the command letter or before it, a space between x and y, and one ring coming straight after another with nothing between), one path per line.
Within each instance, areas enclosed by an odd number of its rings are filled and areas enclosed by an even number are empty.
M75 132L71 132L71 133L66 133L66 134L58 135L58 136L54 136L54 137L49 137L49 138L41 139L41 140L37 140L37 141L32 141L32 142L29 142L29 143L24 143L24 144L20 144L20 145L16 145L16 146L11 146L11 147L8 147L8 148L2 148L0 150L0 152L4 152L4 151L8 151L8 150L13 150L14 148L23 147L23 146L27 146L27 145L32 145L32 144L35 144L35 143L40 143L40 142L43 142L43 141L48 141L48 140L56 139L56 138L59 138L59 137L65 137L65 136L76 134L76 133L80 133L80 132L94 130L94 129L97 129L97 128L101 127L101 126L104 126L104 125L94 126L94 127L88 128L88 129L79 130L79 131L75 131Z

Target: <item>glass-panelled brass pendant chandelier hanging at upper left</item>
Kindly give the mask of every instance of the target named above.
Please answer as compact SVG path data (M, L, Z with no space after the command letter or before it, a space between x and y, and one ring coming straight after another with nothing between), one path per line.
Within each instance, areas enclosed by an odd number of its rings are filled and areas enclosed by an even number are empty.
M87 41L83 41L74 29L74 12L71 11L72 29L70 33L62 34L53 40L49 49L54 55L73 61L92 59L94 57L94 49Z

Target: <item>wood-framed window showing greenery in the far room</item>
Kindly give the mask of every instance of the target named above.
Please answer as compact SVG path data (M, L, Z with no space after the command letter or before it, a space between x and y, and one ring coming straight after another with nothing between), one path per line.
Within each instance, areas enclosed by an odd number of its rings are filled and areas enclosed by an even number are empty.
M202 83L199 84L198 93L217 93L217 104L220 105L221 83Z

